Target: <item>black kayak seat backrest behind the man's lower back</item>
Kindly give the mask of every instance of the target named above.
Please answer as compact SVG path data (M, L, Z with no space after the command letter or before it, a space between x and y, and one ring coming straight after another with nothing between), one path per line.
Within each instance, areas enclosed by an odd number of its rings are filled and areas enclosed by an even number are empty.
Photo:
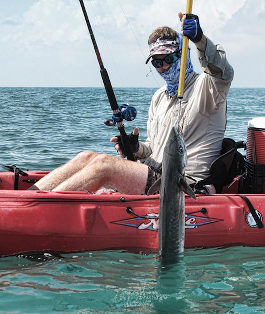
M207 184L213 184L216 193L221 193L222 188L241 173L245 161L237 149L245 147L245 142L235 142L232 138L224 138L221 154L210 166L210 175L196 182L195 189L200 190Z

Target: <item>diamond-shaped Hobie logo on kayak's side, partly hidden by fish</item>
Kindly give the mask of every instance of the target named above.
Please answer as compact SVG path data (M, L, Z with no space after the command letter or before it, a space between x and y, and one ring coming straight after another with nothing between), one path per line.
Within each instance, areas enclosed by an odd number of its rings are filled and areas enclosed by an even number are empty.
M111 221L111 223L116 224L116 225L134 227L134 228L137 228L138 230L158 231L158 227L159 227L158 217L159 217L159 214L150 213L146 216ZM194 229L201 225L207 225L207 224L212 224L214 222L222 221L223 219L193 216L193 215L186 214L185 220L186 220L185 229Z

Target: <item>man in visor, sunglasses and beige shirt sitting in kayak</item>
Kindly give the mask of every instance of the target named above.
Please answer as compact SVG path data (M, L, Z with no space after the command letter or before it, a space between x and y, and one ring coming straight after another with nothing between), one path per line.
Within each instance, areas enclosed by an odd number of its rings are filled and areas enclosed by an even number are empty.
M147 123L148 138L138 142L138 128L129 135L133 152L141 162L133 162L91 151L79 153L65 165L51 171L31 189L50 191L96 191L100 187L127 194L144 194L161 174L163 149L172 126L179 123L184 134L188 165L186 173L195 180L209 174L212 161L220 155L226 125L226 96L233 79L233 68L220 45L214 45L199 25L197 16L182 14L181 35L194 42L204 73L193 71L190 52L187 57L184 98L177 98L182 36L161 27L149 37L152 64L166 85L153 96ZM119 138L115 147L125 157Z

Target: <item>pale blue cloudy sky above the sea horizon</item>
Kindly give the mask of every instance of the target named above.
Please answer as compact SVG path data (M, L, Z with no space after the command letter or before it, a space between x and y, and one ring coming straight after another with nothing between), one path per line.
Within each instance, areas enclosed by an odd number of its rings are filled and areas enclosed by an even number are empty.
M147 40L159 26L180 30L178 12L185 13L186 1L84 4L112 86L164 85L145 64ZM224 47L235 70L232 87L265 88L265 0L194 0L192 13L203 33ZM194 70L201 73L195 46L189 46ZM0 0L0 86L103 86L78 0Z

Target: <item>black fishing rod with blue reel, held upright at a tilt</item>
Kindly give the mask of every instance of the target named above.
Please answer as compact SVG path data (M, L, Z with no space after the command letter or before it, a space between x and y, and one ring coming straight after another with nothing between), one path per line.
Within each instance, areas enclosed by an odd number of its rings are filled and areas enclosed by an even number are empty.
M83 0L79 0L79 2L81 4L84 18L85 18L85 21L86 21L86 24L87 24L87 27L89 30L89 35L91 37L91 40L92 40L92 43L93 43L93 46L95 49L95 53L96 53L96 56L97 56L97 59L99 62L100 74L101 74L101 78L103 80L103 84L105 86L105 91L107 93L107 96L108 96L108 99L109 99L109 102L111 105L111 109L113 111L113 116L112 116L113 123L109 123L107 125L114 125L117 123L118 130L120 131L120 134L121 134L121 140L122 140L122 145L124 148L124 153L126 154L128 160L135 161L135 157L134 157L134 154L132 152L127 134L125 132L124 123L122 120L123 119L126 119L126 120L129 119L129 121L132 121L136 116L136 111L133 107L127 106L127 104L118 106L117 100L116 100L116 97L114 95L114 91L113 91L113 88L111 85L109 75L107 73L107 70L104 68L104 65L103 65L103 62L102 62L102 59L100 56L100 52L99 52L99 49L98 49L98 46L97 46L97 43L95 40L95 36L93 34L93 30L92 30L92 27L90 25L88 15L86 13L84 2L83 2ZM131 108L133 108L134 110L131 110Z

